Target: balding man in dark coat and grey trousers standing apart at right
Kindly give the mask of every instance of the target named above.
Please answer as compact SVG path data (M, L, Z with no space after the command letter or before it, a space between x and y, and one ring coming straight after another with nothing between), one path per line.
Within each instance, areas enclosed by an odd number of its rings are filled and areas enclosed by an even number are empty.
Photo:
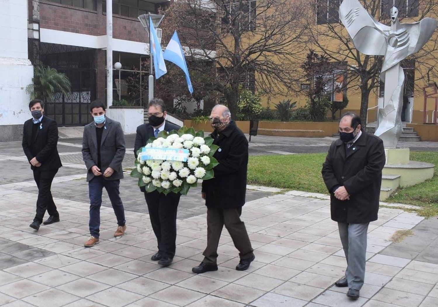
M347 296L357 299L364 284L368 224L377 220L385 149L383 141L367 133L360 117L351 112L339 121L339 135L322 165L322 178L347 260L345 277L335 285L348 286Z

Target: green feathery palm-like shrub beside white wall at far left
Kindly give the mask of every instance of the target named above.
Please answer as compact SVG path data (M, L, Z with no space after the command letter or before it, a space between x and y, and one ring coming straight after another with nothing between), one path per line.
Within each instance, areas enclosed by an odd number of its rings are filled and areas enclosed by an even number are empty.
M28 85L27 92L32 99L38 98L44 102L52 100L56 92L68 95L71 89L67 76L50 67L36 66L32 82L33 84Z

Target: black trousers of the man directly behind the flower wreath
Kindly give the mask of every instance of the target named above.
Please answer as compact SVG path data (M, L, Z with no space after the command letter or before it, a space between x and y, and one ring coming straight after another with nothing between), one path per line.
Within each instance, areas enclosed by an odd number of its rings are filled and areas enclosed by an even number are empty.
M177 208L181 194L164 195L153 191L145 193L149 218L158 242L158 251L163 257L175 256L177 240Z

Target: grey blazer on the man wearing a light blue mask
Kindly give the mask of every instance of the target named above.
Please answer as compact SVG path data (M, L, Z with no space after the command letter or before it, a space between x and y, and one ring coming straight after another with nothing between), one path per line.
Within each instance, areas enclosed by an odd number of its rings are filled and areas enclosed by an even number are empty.
M106 180L119 180L123 178L122 161L125 156L125 137L122 126L119 122L106 117L102 142L100 145L101 172L108 167L114 169L113 175L103 177ZM97 165L97 137L94 122L84 127L84 137L82 138L82 158L87 166L87 181L94 178L91 170L92 166Z

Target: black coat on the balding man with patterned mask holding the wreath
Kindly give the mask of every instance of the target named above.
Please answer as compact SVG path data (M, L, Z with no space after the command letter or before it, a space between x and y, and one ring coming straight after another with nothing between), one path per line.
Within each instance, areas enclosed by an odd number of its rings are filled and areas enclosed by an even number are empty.
M235 122L219 134L211 134L213 144L219 148L213 155L219 165L214 170L214 178L202 182L205 205L211 208L239 208L245 204L248 141Z

